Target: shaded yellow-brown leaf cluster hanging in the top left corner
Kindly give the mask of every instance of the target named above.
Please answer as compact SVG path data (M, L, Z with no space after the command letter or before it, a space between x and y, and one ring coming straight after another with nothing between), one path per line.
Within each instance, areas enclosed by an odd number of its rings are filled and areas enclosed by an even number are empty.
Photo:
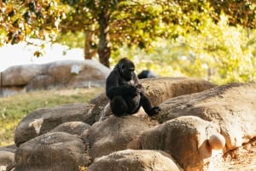
M28 36L53 39L67 11L58 0L1 1L0 8L0 46L25 41Z

